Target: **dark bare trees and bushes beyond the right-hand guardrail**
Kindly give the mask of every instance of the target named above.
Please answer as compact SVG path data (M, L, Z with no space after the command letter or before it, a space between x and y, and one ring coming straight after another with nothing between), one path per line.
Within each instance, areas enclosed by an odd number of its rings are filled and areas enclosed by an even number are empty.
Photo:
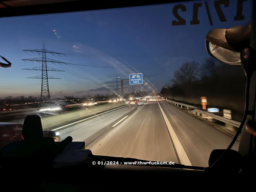
M245 84L241 67L208 58L202 64L196 61L183 63L174 72L170 84L162 88L161 95L195 105L200 105L200 97L206 96L209 106L243 113Z

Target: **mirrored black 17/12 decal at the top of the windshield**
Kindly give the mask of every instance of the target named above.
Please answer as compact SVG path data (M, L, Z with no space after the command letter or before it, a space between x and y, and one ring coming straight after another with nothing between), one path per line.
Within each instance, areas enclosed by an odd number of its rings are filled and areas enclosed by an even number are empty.
M237 0L236 16L234 17L234 21L244 20L244 15L242 13L244 1L247 1L247 0ZM233 2L233 0L232 0L232 2ZM215 7L215 10L216 10L219 18L220 18L220 21L224 22L224 21L227 21L227 19L226 19L225 15L224 15L224 13L221 9L221 5L224 6L224 7L228 7L229 6L229 0L214 1L214 7ZM194 3L193 4L193 17L192 17L192 20L190 21L190 25L200 24L200 20L198 20L197 16L198 16L198 9L202 6L203 6L203 3ZM212 17L211 17L211 14L210 14L210 10L209 10L209 6L208 6L207 1L204 1L204 7L205 7L206 12L207 12L209 23L210 23L210 25L213 25L212 24ZM186 12L187 11L187 8L184 4L175 5L172 9L172 13L173 13L174 17L176 17L177 20L172 20L172 25L186 25L186 20L183 19L182 17L180 17L180 15L178 13L179 9L181 10L181 12Z

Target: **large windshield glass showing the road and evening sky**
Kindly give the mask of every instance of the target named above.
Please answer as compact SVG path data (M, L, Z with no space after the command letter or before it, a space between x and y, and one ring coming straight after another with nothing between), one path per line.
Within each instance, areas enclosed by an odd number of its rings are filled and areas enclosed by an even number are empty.
M246 83L205 37L251 13L238 0L0 18L0 55L12 63L0 68L0 122L36 114L49 137L94 155L205 167L239 127ZM21 132L6 127L1 146Z

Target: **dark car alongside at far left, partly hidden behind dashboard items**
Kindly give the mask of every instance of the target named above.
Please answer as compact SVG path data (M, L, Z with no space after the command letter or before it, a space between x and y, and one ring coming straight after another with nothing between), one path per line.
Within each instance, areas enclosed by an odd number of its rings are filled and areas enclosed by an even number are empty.
M23 124L17 123L0 123L0 148L5 145L17 141L23 140L22 132ZM44 137L52 137L54 141L60 141L60 133L51 130L43 131Z

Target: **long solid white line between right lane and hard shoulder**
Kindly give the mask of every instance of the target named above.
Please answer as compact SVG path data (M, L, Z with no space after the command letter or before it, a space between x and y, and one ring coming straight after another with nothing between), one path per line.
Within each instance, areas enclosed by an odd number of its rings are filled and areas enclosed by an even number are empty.
M164 117L164 121L165 121L165 123L166 123L166 125L167 125L167 128L168 128L168 130L169 130L169 132L170 132L170 135L171 135L173 144L174 144L174 146L175 146L175 148L176 148L176 151L177 151L177 153L178 153L178 156L179 156L179 158L180 158L180 163L181 163L181 164L184 164L184 165L192 165L192 164L190 163L189 159L188 159L188 156L187 156L187 154L186 154L184 148L182 147L182 145L181 145L181 143L180 143L180 140L178 139L176 133L174 132L174 130L173 130L173 128L172 128L172 125L170 124L170 122L169 122L167 116L165 115L164 110L161 108L161 106L160 106L160 104L159 104L158 101L157 101L157 103L158 103L159 108L160 108L160 110L161 110L161 112L162 112L162 115L163 115L163 117Z

